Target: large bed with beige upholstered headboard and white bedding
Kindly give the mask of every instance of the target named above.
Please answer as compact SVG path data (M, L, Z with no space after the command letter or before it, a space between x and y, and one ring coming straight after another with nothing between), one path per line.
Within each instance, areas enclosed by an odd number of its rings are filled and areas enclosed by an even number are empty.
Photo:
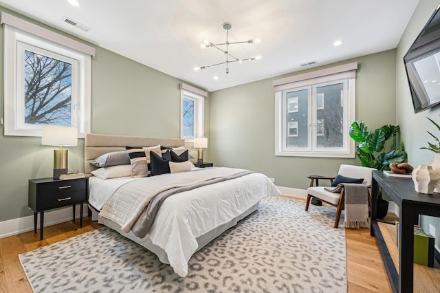
M184 140L178 138L87 133L85 173L89 176L89 206L92 219L151 250L162 263L170 264L174 272L183 277L188 274L192 254L257 210L261 199L280 193L265 175L242 169L197 169L192 166L190 172L178 172L177 169L175 173L158 176L131 177L124 171L121 176L105 178L101 174L112 167L99 168L91 164L102 155L126 151L126 146L157 145L164 150L185 149ZM133 166L133 161L128 166L125 162L118 169L131 168L133 172ZM165 184L170 187L162 187ZM149 208L137 202L145 200L142 199L144 195L137 195L137 191L156 191L157 188L162 188L161 196L169 191L175 194L164 196L149 226L143 222L139 224L138 216L151 216L146 215ZM159 196L153 197L149 206L156 197ZM111 205L115 203L115 206Z

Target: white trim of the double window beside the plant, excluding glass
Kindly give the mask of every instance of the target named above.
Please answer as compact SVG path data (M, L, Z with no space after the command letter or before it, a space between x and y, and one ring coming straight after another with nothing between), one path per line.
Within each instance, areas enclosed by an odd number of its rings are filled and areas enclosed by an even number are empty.
M340 65L328 69L318 70L316 72L309 72L307 74L299 74L298 76L290 76L274 80L273 85L275 89L275 155L279 156L298 156L298 157L318 157L318 158L355 158L355 142L348 137L348 129L351 122L355 120L355 76L358 63L349 63L347 65ZM345 124L342 126L347 135L344 136L344 145L347 146L347 151L338 151L326 148L323 151L288 151L283 149L285 145L285 136L283 127L283 91L287 89L296 89L305 87L311 84L331 83L335 80L348 79L349 92L343 95L344 115L347 115ZM312 102L316 102L313 101ZM310 107L309 107L310 109ZM309 113L311 114L311 113ZM284 130L283 130L284 128ZM346 137L347 136L347 137ZM310 140L311 138L309 138ZM309 142L308 145L311 142Z

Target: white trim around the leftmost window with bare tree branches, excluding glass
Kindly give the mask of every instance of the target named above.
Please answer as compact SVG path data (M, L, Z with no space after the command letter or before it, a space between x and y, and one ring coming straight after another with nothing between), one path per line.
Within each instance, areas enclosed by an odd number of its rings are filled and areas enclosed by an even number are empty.
M94 47L41 28L39 25L34 25L5 12L1 12L1 23L3 23L4 27L4 135L41 136L41 126L39 125L36 125L34 129L21 129L17 125L17 85L19 85L19 76L17 75L17 43L23 42L41 47L44 50L65 54L80 61L78 68L80 73L78 119L75 124L78 127L78 138L84 138L84 134L89 133L91 130L91 56L95 54Z

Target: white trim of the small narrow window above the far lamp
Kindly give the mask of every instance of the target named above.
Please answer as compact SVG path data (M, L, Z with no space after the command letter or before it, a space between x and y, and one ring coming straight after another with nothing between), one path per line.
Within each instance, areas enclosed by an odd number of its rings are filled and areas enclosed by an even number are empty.
M192 87L186 83L181 83L180 89L180 138L183 138L185 142L194 142L194 138L205 137L205 98L208 96L208 91L203 91L203 89ZM196 100L193 138L184 137L183 105L185 96Z

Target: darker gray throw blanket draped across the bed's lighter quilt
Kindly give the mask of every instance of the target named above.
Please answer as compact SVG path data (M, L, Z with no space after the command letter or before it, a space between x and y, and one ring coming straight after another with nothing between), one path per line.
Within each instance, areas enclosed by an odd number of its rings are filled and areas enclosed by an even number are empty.
M157 215L157 211L159 210L160 206L162 206L162 203L165 201L165 199L167 199L171 195L175 195L176 193L183 193L185 191L190 191L192 189L199 188L201 186L223 182L226 180L232 180L238 177L242 177L244 175L248 175L250 173L252 173L252 171L243 171L235 175L212 178L210 180L206 180L203 182L198 182L187 186L174 187L166 191L162 191L161 193L157 193L157 195L155 195L153 199L151 199L151 201L148 203L146 208L142 211L142 214L137 218L135 224L133 225L133 227L131 227L131 231L133 231L133 234L136 235L137 237L144 238L146 233L148 233L148 230L150 230L151 226L153 225Z

